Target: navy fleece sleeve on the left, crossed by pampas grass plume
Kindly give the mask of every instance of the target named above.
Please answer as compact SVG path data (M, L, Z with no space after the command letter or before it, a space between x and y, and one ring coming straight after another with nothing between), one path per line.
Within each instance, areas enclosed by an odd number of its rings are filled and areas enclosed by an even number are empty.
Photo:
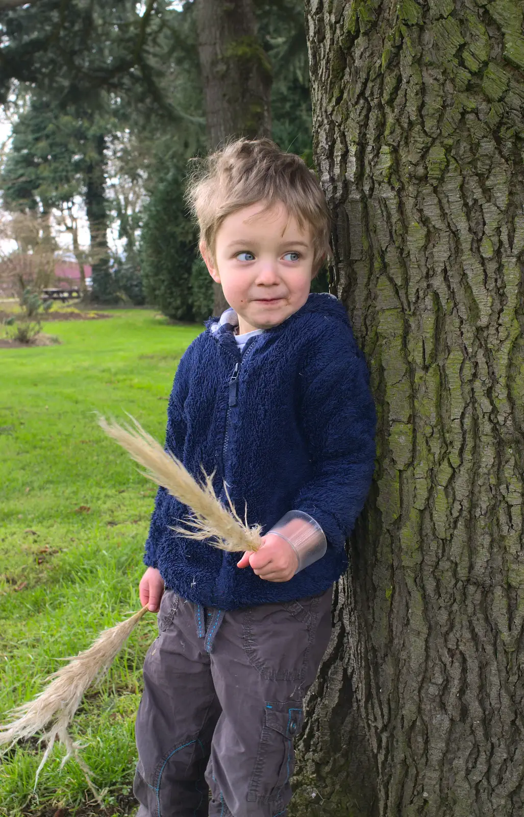
M169 403L167 404L167 428L166 428L166 451L171 451L178 459L184 458L184 444L186 426L184 422L184 400L189 389L188 352L186 351L180 359L179 367L175 374L175 381ZM153 516L149 525L149 535L145 542L144 564L148 567L158 566L158 546L165 537L173 534L170 525L176 525L177 520L187 516L187 508L178 499L171 497L165 488L160 487L157 491Z

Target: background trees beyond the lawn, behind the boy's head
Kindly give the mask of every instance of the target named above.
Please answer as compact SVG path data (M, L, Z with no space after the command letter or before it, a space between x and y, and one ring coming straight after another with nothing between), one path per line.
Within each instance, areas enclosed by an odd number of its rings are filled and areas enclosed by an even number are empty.
M48 259L65 232L86 294L92 266L91 300L205 319L214 293L184 207L188 160L242 133L273 136L312 163L303 3L9 5L0 89L16 118L0 186L4 209L31 223L23 249ZM327 288L326 272L315 286Z

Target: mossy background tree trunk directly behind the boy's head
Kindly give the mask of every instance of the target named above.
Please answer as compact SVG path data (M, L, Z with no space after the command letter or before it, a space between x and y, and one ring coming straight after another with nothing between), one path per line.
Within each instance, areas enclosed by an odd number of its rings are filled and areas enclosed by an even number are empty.
M253 0L197 0L198 56L214 150L230 136L271 135L271 65L257 38ZM215 315L228 304L215 284Z

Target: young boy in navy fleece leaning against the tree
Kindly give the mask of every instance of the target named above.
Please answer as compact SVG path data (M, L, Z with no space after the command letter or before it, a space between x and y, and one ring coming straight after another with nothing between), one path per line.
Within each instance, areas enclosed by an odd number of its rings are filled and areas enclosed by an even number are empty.
M231 308L180 360L166 447L195 477L214 472L264 543L239 559L175 534L188 509L159 489L140 582L143 605L162 603L136 721L138 817L276 817L371 482L375 409L344 307L309 294L329 216L304 162L236 141L189 199Z

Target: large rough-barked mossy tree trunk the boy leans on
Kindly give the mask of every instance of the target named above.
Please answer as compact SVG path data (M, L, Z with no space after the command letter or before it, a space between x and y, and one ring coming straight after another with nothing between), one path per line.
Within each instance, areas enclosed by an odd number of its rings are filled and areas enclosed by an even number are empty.
M517 817L522 7L307 0L306 16L335 288L379 432L291 813Z

